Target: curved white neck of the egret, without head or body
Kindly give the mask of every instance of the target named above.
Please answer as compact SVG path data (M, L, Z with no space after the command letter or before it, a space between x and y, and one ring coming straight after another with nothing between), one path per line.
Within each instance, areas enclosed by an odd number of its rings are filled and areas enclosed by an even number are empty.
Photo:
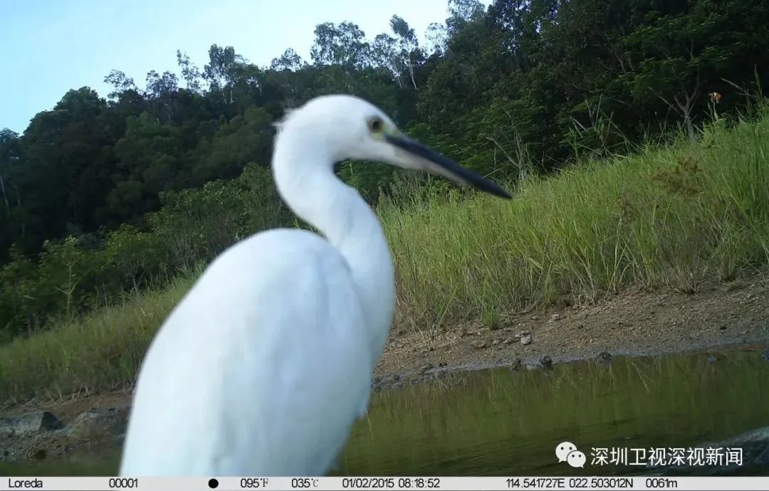
M374 211L354 187L334 174L334 164L341 158L329 146L308 128L289 123L275 139L272 172L291 211L317 228L345 258L368 320L361 328L369 331L376 363L394 309L392 256Z

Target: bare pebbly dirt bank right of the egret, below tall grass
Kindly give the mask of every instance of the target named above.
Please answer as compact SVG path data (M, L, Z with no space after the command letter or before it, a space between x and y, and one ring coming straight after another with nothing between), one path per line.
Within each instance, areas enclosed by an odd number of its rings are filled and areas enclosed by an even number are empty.
M527 334L531 335L528 339ZM521 339L527 338L527 339ZM531 343L524 344L521 342ZM769 278L704 285L695 294L628 290L591 305L511 316L498 330L466 323L438 333L393 333L377 375L448 367L554 362L769 343Z

